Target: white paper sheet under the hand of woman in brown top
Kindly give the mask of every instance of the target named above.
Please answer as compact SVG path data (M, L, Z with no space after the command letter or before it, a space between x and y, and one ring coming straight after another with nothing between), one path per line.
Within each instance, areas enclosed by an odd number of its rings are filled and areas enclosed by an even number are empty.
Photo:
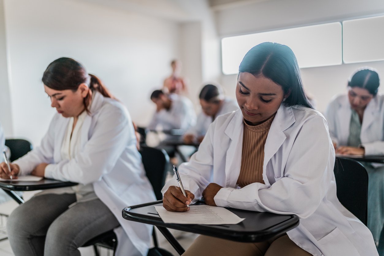
M177 224L237 224L245 220L223 207L210 205L190 205L185 212L167 211L163 206L155 206L164 223Z

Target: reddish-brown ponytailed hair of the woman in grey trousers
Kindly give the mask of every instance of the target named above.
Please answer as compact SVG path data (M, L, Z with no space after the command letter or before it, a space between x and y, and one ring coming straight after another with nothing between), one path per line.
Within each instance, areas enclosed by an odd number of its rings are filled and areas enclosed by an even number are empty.
M58 91L68 89L77 91L80 84L86 83L91 91L98 91L104 97L115 99L97 76L88 74L81 63L71 58L63 57L52 61L45 69L41 80L49 88ZM87 112L89 112L90 94L91 92L88 92L83 101Z

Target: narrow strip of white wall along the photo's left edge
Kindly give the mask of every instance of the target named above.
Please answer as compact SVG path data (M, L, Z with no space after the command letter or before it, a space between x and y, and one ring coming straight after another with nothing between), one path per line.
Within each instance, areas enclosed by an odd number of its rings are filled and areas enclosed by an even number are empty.
M12 135L12 109L8 84L7 48L5 43L5 16L0 0L0 124L5 136Z

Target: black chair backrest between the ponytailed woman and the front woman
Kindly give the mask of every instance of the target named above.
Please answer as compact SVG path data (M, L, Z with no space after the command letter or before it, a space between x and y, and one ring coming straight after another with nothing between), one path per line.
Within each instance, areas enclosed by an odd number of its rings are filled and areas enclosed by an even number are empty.
M157 200L162 200L161 189L164 186L169 168L169 156L164 149L141 146L142 162L146 175L151 182Z

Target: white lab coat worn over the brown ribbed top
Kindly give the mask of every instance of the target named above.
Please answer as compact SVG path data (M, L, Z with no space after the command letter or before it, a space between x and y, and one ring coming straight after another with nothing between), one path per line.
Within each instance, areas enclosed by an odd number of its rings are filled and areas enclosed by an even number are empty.
M287 232L315 256L378 255L371 232L336 197L334 149L324 117L303 106L280 106L268 133L262 183L239 188L243 115L217 117L198 152L180 165L184 188L202 197L210 182L223 188L217 206L278 214L296 214L298 227ZM166 183L163 193L175 179Z

